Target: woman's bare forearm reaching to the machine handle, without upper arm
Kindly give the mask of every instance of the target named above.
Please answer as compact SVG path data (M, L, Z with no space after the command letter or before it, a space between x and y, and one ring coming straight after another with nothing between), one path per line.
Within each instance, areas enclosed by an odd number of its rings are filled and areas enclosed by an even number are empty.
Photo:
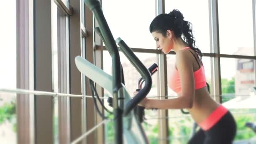
M146 108L157 109L189 109L192 107L192 102L185 97L174 99L148 99Z

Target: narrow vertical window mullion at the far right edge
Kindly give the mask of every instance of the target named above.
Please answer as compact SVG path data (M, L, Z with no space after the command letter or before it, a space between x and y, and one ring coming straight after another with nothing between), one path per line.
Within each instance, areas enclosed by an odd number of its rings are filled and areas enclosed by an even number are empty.
M253 45L254 45L254 56L256 56L256 0L252 0L253 9ZM254 83L256 83L256 60L253 60L253 70L254 70Z

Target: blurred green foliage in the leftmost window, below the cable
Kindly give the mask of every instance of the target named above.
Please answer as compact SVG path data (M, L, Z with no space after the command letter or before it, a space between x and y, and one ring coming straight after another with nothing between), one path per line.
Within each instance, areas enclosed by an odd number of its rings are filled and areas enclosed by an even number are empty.
M5 103L0 107L0 125L6 120L13 123L13 131L16 132L16 104L14 101Z

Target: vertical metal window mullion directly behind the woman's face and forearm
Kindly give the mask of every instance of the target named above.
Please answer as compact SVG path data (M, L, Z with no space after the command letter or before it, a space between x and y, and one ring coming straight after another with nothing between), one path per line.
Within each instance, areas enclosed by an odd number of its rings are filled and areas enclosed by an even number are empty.
M165 0L156 0L156 15L159 15L161 13L165 13ZM158 51L158 50L155 50ZM168 89L167 89L167 61L166 61L166 54L160 52L157 54L157 61L159 66L159 72L157 77L158 82L158 96L167 96L168 95ZM159 97L159 99L167 99L167 97ZM158 117L168 117L168 110L161 109L158 111ZM159 125L159 138L160 139L166 139L163 141L159 141L160 144L168 144L169 140L168 138L168 120L167 119L159 119L158 120Z

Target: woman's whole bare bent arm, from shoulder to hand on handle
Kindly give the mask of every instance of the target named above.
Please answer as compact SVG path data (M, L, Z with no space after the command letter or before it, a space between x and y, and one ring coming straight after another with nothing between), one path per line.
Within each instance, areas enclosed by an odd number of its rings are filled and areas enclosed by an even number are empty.
M189 54L189 51L179 51L176 53L176 67L179 72L182 90L178 98L165 100L144 99L140 103L141 106L146 107L146 109L183 109L193 106L195 80L193 62L189 59Z

